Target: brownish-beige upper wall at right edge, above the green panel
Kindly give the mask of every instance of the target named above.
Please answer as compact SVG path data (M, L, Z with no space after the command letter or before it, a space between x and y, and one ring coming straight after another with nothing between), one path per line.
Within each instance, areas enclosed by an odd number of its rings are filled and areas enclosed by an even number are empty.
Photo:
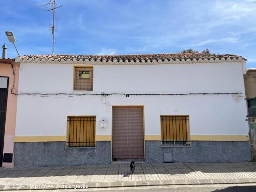
M256 69L247 69L244 75L246 98L256 97Z

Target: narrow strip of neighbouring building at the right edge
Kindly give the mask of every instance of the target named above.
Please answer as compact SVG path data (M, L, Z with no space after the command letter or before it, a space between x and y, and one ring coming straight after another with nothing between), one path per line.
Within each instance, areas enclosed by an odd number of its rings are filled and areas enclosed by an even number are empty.
M256 161L256 69L247 69L244 74L245 95L248 106L249 138L252 146L252 160Z

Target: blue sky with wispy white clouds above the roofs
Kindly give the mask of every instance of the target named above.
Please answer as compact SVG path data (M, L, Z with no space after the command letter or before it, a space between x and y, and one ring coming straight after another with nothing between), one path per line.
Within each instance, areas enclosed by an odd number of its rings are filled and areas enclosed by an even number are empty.
M52 53L49 0L2 0L0 42L13 31L20 54ZM256 68L256 0L57 0L55 54L177 53L245 57Z

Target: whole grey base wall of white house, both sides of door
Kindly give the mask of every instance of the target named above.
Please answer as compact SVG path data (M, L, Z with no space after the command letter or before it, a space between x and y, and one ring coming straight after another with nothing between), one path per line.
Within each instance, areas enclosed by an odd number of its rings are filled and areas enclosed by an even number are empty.
M146 141L145 161L241 162L251 160L247 141L191 141L190 146L162 147ZM94 148L66 148L66 142L14 143L14 167L76 166L111 163L111 141L96 141Z

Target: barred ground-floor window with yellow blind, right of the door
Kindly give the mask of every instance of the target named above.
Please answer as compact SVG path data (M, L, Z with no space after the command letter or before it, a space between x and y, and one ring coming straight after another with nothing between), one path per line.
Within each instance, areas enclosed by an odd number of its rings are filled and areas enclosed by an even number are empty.
M189 145L189 116L161 116L162 145Z

